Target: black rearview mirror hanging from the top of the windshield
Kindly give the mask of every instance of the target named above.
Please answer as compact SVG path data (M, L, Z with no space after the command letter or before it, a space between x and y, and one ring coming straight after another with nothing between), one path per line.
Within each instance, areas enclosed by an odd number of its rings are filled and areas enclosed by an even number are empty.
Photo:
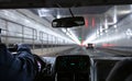
M81 25L85 25L85 20L82 16L55 19L52 22L53 27L73 27Z

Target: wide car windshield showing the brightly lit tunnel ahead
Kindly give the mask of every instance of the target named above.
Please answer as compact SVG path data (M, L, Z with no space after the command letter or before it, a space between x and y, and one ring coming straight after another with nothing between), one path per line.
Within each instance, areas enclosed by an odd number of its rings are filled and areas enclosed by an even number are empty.
M94 46L95 53L108 48L112 50L108 53L109 56L132 55L131 4L78 7L70 10L74 16L85 19L84 26L52 27L54 19L73 16L68 8L1 9L2 43L9 47L14 43L29 44L32 51L40 56L57 56L57 51L76 46L85 49L88 44Z

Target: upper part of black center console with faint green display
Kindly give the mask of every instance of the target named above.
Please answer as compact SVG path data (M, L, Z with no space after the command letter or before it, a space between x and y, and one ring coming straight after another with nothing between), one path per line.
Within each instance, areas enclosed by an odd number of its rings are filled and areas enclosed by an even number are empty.
M90 67L89 57L85 55L67 55L56 58L56 71L88 71Z

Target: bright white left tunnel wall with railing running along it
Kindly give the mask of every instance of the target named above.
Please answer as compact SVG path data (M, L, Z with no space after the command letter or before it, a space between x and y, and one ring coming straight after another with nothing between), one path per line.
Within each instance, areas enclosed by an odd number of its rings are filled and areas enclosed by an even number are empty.
M14 44L25 43L34 45L66 45L72 44L63 35L48 28L51 23L44 21L44 24L23 15L16 10L0 10L0 28L2 28L2 43Z

